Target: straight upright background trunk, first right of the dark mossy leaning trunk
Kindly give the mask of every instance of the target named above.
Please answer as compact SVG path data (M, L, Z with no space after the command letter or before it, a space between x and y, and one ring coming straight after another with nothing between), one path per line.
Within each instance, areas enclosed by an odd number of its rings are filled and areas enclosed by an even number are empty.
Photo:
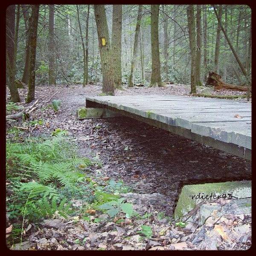
M49 5L49 85L55 81L54 5Z

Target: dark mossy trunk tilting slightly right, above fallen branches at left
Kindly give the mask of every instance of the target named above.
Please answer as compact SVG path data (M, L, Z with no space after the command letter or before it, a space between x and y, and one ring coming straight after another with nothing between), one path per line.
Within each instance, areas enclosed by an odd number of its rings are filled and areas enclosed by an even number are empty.
M35 58L36 58L36 39L38 30L38 15L39 15L39 5L32 6L31 14L31 24L30 24L30 38L29 38L29 90L26 99L26 103L32 102L35 99Z

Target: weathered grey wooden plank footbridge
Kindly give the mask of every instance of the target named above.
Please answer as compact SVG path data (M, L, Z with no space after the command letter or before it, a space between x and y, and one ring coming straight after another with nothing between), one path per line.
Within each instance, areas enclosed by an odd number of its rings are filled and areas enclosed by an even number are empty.
M251 103L191 96L86 97L106 108L174 134L251 160Z

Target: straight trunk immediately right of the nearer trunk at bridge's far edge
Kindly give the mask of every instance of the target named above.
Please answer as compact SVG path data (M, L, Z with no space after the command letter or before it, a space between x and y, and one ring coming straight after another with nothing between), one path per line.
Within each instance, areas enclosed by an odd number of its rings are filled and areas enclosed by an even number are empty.
M200 86L201 82L201 46L202 46L202 26L201 26L201 5L196 6L196 58L195 58L195 85Z

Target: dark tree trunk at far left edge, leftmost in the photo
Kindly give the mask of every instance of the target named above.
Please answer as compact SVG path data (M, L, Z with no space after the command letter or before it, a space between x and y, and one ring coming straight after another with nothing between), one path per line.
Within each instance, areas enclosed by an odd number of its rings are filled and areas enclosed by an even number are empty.
M18 89L15 85L14 70L14 38L15 38L15 5L6 9L6 82L10 90L11 101L20 102Z

